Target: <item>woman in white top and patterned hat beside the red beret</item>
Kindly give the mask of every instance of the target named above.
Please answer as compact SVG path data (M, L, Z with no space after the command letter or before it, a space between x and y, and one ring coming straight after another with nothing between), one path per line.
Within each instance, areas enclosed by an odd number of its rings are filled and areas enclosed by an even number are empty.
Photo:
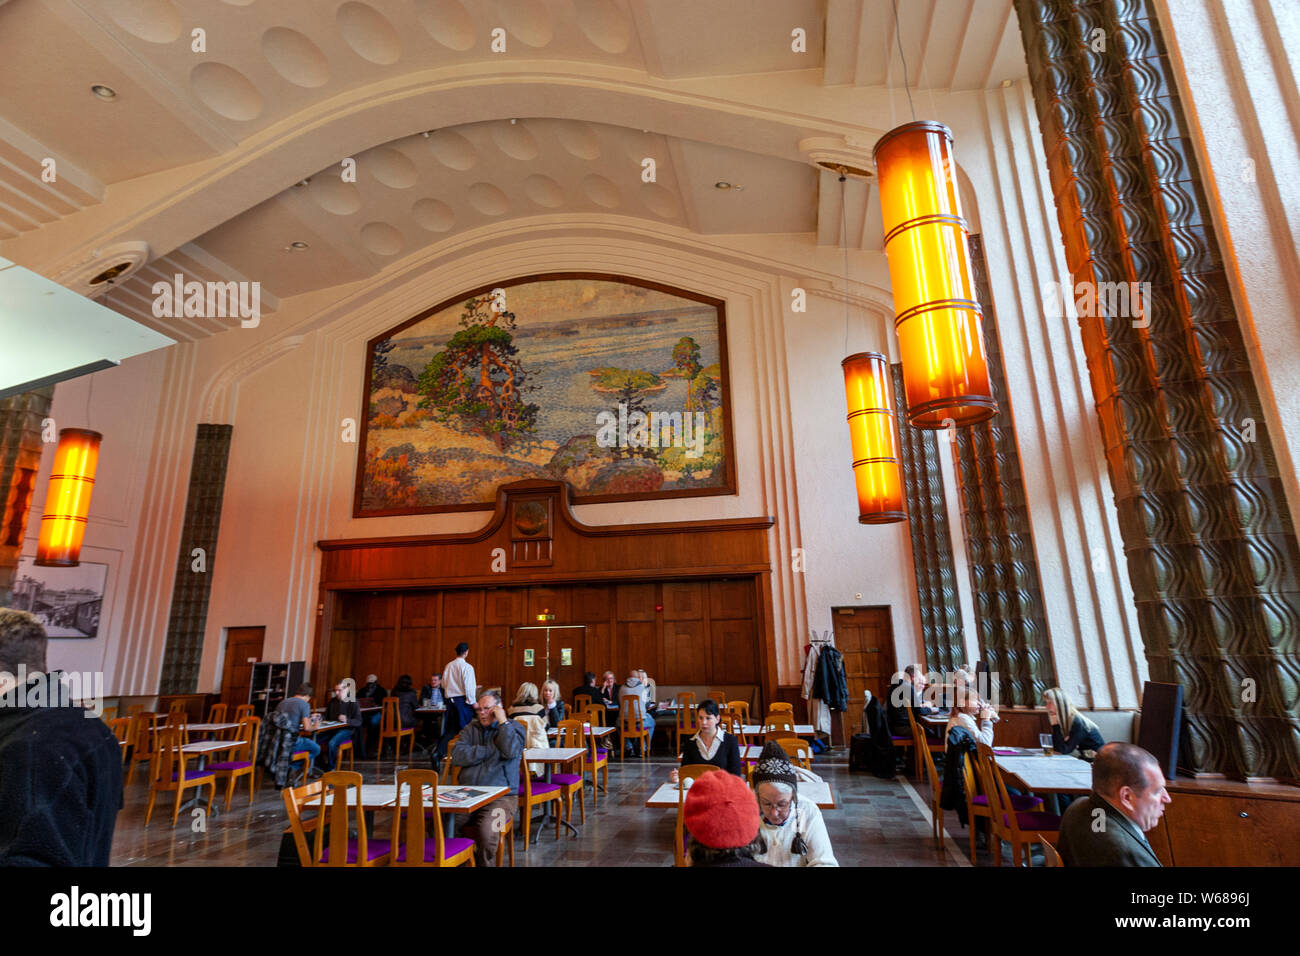
M768 866L838 866L822 810L800 800L798 775L785 750L768 741L754 767L754 790L767 848L754 858Z

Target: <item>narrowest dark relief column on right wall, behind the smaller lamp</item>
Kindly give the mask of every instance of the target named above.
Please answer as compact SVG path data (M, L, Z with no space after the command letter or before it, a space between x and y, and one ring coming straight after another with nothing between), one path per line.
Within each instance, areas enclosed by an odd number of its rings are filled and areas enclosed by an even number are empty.
M889 369L893 373L894 407L898 410L898 451L904 493L907 496L907 531L911 535L926 669L950 672L966 661L966 650L962 609L957 604L957 571L953 567L944 475L939 466L940 440L932 431L907 424L902 364L896 363Z

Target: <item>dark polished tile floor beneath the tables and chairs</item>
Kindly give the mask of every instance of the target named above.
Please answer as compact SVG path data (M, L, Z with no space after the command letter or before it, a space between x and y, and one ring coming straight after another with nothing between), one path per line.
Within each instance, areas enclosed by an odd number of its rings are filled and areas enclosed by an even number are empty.
M428 765L417 761L417 767ZM645 800L667 779L667 757L618 761L610 765L610 793L593 806L588 793L586 823L580 835L566 831L556 842L554 826L524 852L516 840L516 866L671 866L673 812L647 809ZM367 783L393 780L394 762L358 761ZM217 810L204 823L202 814L182 810L173 827L169 795L160 795L150 826L144 826L148 790L144 767L126 788L126 805L118 817L113 840L114 866L274 866L281 836L287 826L285 808L273 787L259 787L250 806L248 787L240 783L229 813ZM967 834L956 814L946 814L949 835L942 848L930 838L928 787L916 787L902 777L883 780L870 774L850 774L845 750L816 758L814 770L833 788L837 808L823 810L831 844L841 866L968 866ZM224 793L224 791L222 791ZM575 818L577 806L575 805ZM386 816L380 817L386 829ZM1004 851L1005 852L1005 851ZM1009 860L1009 855L1004 858ZM980 852L979 865L992 865Z

